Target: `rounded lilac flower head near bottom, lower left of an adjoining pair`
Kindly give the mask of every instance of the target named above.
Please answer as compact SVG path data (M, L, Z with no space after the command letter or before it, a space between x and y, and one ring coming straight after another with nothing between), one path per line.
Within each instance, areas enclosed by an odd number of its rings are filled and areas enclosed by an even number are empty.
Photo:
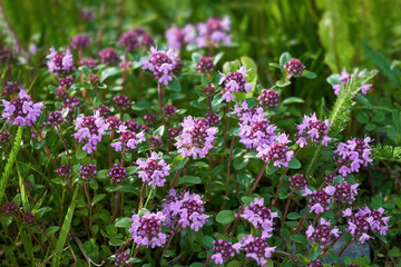
M143 217L133 215L131 220L133 224L128 231L131 234L134 243L151 248L163 247L166 243L167 235L162 233L162 225L166 221L166 216L163 212L154 214L148 210Z

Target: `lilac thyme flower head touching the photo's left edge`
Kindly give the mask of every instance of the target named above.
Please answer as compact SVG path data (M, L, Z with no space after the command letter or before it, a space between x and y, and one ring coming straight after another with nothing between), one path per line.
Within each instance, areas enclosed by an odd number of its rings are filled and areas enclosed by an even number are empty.
M33 102L26 90L21 89L17 98L2 99L4 110L1 117L16 126L32 126L39 118L43 102Z

